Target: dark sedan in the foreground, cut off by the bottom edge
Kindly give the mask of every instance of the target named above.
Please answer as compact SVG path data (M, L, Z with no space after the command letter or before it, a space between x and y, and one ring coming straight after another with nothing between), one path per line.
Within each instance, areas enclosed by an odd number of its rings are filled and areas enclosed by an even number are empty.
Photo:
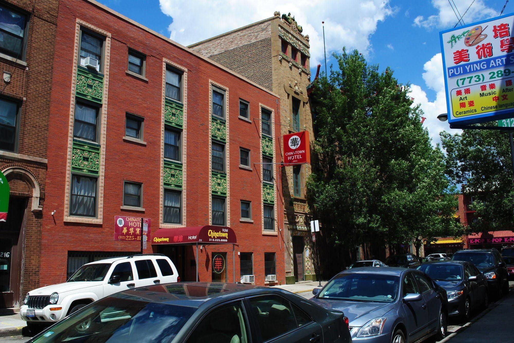
M350 343L347 318L291 292L243 284L175 283L103 298L29 342Z

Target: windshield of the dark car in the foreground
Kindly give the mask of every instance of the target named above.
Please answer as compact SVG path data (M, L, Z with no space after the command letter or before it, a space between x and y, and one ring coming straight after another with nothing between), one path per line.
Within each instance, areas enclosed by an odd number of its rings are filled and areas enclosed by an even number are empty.
M194 311L183 306L109 297L61 320L33 342L169 342Z

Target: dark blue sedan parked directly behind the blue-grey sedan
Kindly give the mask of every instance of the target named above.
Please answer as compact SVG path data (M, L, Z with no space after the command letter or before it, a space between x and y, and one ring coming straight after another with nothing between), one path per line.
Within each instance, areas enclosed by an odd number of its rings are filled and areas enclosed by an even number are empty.
M466 321L471 310L489 306L487 278L476 267L463 261L433 261L417 267L446 290L448 315Z

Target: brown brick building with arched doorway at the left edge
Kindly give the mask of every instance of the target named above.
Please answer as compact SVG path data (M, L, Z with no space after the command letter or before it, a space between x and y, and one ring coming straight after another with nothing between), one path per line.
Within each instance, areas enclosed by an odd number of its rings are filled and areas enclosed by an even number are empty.
M0 308L39 286L57 0L0 1L0 171L10 186L0 221Z

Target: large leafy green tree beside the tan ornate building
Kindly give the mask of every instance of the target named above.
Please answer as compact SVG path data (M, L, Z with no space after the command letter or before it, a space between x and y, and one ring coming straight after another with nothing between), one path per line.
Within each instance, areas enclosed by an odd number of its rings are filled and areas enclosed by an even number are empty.
M362 244L420 245L456 233L444 156L411 106L409 86L357 51L334 57L338 69L312 94L316 140L306 185L331 253L348 261Z

